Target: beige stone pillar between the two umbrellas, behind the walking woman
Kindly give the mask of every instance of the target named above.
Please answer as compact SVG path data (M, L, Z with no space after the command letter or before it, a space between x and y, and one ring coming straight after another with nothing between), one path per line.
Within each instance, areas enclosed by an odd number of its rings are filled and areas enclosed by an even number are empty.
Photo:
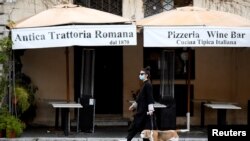
M123 17L135 21L144 17L142 0L124 0ZM143 67L142 34L137 34L137 46L123 47L123 117L131 118L132 112L128 110L133 100L132 91L140 88L138 74Z

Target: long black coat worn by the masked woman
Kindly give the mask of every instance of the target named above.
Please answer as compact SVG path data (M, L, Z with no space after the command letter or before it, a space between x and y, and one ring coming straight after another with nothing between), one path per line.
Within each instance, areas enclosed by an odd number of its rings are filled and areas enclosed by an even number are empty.
M147 115L148 105L154 104L153 87L149 80L143 82L136 99L137 109L134 116L134 124L138 129L151 129L150 116Z

